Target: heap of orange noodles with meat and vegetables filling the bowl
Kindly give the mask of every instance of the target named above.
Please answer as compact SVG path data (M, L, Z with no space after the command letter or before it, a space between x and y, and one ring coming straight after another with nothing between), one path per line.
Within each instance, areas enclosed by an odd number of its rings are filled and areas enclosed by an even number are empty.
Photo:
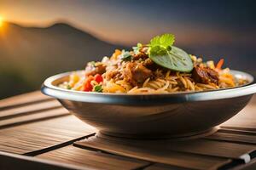
M111 57L89 62L84 71L73 72L59 87L99 93L168 94L233 88L247 82L233 77L229 68L222 69L224 59L215 65L212 60L203 62L189 55L193 69L175 71L154 62L149 50L142 44L131 51L116 49Z

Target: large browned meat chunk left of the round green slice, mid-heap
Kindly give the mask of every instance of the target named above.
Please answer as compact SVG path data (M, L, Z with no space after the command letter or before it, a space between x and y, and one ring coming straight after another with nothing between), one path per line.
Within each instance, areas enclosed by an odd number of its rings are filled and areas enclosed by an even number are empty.
M152 71L148 70L142 64L128 63L125 66L124 78L131 82L133 86L141 85L148 77L153 75Z

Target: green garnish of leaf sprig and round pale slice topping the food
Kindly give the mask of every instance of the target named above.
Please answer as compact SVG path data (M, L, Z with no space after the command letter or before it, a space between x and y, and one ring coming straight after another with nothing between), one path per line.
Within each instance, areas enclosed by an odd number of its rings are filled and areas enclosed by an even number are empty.
M151 39L149 46L149 58L154 63L173 71L189 72L193 69L189 54L182 49L172 46L175 37L172 34L164 34Z

